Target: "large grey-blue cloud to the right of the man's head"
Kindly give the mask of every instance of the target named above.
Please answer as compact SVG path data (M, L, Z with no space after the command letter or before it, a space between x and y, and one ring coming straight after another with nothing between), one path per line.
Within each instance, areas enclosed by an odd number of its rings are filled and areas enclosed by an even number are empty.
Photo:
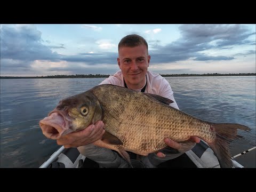
M196 60L230 60L231 55L214 56L202 53L206 50L221 49L230 45L246 45L251 41L246 38L252 34L242 25L182 25L179 27L181 37L166 46L154 44L150 52L154 63L184 61L190 58ZM214 43L212 43L214 42Z

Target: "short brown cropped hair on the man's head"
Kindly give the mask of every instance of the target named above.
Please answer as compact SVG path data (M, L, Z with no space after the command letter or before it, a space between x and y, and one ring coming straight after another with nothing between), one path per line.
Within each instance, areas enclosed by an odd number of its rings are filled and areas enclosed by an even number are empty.
M121 41L118 44L118 52L120 47L127 46L127 47L134 47L134 46L139 46L139 45L146 45L147 51L148 51L148 43L146 42L145 38L132 34L132 35L127 35L121 39Z

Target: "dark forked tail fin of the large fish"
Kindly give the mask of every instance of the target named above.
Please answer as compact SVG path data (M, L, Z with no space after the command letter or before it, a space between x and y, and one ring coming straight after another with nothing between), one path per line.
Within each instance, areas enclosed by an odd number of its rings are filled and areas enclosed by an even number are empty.
M240 124L231 123L215 123L213 127L216 131L216 139L209 143L209 146L217 156L222 168L230 168L232 166L231 154L229 151L229 143L234 139L241 138L237 135L237 129L250 131L250 128Z

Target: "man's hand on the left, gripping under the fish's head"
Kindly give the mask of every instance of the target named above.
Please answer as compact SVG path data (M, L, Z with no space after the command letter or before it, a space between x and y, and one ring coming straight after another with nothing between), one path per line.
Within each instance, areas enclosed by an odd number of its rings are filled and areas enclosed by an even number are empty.
M102 138L102 135L105 133L103 127L104 123L98 121L95 125L91 124L84 130L64 135L60 139L57 139L57 144L63 145L65 148L88 145Z

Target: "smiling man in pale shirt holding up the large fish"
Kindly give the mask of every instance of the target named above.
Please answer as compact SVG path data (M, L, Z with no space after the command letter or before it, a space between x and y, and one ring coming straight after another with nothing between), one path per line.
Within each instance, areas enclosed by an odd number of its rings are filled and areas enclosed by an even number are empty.
M153 93L169 98L173 103L170 106L179 109L173 97L170 84L161 75L148 71L150 55L148 44L139 35L127 35L118 44L118 66L113 76L109 76L100 84L113 84L127 87L132 90ZM94 146L92 143L102 138L105 133L104 124L98 121L86 129L73 132L57 140L58 145L65 148L77 147L79 152L86 157L98 162L101 167L128 167L127 163L115 151ZM146 167L157 167L158 164L169 159L176 158L195 146L193 142L199 142L198 137L191 137L184 143L175 142L169 138L163 138L169 146L157 154L152 153L147 157L142 156L141 161Z

